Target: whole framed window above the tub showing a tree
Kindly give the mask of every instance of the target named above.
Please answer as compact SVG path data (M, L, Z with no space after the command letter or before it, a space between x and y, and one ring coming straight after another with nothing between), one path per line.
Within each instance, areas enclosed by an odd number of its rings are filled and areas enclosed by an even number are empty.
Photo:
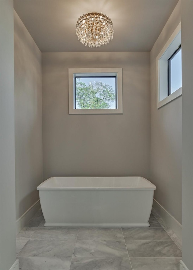
M69 114L122 113L122 68L68 69Z

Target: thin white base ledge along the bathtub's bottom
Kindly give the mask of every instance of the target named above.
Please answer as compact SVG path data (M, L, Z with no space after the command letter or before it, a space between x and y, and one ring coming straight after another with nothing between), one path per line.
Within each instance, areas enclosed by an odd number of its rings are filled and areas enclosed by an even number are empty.
M147 223L44 223L45 227L149 227Z

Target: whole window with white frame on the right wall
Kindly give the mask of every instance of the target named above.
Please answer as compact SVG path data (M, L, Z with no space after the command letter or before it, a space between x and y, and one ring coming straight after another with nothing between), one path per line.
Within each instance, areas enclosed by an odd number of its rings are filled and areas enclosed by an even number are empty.
M182 95L181 23L157 56L157 109Z

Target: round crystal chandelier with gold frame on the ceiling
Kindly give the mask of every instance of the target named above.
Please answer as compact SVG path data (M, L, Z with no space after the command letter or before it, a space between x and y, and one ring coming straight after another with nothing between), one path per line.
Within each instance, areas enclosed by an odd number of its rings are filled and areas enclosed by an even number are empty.
M85 46L99 47L108 44L113 37L112 20L98 12L83 14L76 23L76 35Z

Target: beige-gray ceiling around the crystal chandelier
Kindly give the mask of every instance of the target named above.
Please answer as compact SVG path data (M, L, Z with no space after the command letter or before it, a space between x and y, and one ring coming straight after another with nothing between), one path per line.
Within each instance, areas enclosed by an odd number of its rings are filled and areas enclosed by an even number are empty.
M150 51L178 0L14 0L14 9L41 52ZM99 48L78 41L78 18L91 11L108 15L112 41Z

